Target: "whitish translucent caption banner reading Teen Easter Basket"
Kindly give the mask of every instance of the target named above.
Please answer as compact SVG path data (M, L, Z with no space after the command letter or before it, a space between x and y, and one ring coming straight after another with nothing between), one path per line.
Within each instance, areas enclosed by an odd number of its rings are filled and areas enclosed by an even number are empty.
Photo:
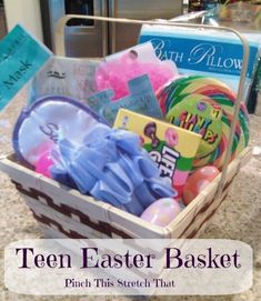
M252 265L251 247L237 240L34 239L6 247L4 284L36 295L221 295L250 289Z

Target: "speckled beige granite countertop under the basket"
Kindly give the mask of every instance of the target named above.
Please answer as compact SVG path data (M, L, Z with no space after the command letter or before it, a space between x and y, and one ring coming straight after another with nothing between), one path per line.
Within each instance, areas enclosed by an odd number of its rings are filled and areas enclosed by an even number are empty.
M23 104L23 92L0 116L0 154L11 151L12 124ZM261 117L250 118L251 146L261 147ZM261 300L261 155L254 155L234 180L231 191L218 213L201 233L205 239L234 239L249 243L254 252L254 281L252 288L241 294L221 297L152 297L153 301L259 301ZM3 249L16 240L40 238L41 232L31 212L14 190L9 178L0 173L0 232L2 301L87 301L87 300L137 300L129 297L31 297L8 291L3 283ZM144 298L143 298L144 299Z

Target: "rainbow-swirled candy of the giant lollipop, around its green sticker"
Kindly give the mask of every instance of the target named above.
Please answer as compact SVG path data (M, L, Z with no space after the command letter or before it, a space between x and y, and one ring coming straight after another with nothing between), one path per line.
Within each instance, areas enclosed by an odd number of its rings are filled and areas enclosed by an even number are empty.
M212 78L205 78L200 76L180 78L167 84L157 93L161 110L164 114L167 114L167 119L169 119L170 121L174 117L177 118L177 110L179 112L181 111L181 109L188 110L188 103L190 101L192 103L195 101L201 101L200 98L197 96L202 96L203 102L209 103L207 106L212 106L213 111L217 108L222 109L222 116L220 116L222 130L221 137L219 136L220 132L217 132L218 140L215 140L215 143L212 144L212 150L210 144L204 146L205 148L203 148L203 143L201 144L197 154L197 159L193 162L193 167L202 167L211 163L218 168L222 168L225 150L228 148L231 122L233 119L235 93L223 82ZM198 107L198 109L201 109L201 107ZM215 126L215 130L217 127L218 126ZM217 141L219 141L219 143ZM241 103L239 121L237 122L232 144L232 159L247 147L248 141L249 118L245 106Z

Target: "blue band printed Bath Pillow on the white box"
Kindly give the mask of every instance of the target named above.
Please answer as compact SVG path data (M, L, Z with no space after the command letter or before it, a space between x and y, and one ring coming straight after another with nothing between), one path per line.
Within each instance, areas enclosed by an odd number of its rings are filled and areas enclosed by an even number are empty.
M155 33L157 34L157 33ZM161 60L172 60L178 68L220 74L240 76L242 69L242 46L239 43L217 42L192 37L154 37L142 33L139 42L151 41ZM251 78L258 47L250 46L247 77Z

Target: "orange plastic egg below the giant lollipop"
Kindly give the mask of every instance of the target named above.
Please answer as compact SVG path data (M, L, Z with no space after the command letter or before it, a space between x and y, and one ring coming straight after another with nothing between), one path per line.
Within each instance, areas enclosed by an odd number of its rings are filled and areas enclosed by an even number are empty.
M194 171L184 184L182 195L184 204L189 204L219 173L220 171L212 165Z

